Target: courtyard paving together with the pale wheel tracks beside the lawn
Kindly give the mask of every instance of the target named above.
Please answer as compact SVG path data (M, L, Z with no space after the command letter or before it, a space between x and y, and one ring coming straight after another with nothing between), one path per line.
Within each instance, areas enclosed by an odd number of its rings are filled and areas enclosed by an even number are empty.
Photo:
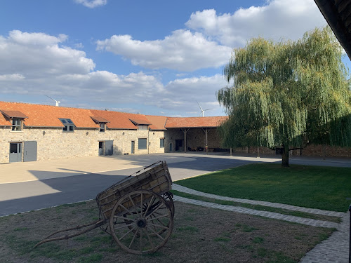
M47 208L63 203L74 203L93 199L96 194L109 187L111 184L159 160L164 160L168 163L172 180L176 181L204 173L211 173L216 170L243 166L247 163L281 162L280 158L274 157L275 156L256 158L256 156L228 156L227 154L205 155L203 153L176 153L109 157L96 156L28 163L4 163L0 164L0 216ZM291 159L290 163L314 166L351 167L351 161L347 159L329 159L324 161L318 158L295 157ZM174 184L173 188L190 194L227 200L220 196L205 194L192 189L185 189L185 187L180 187L177 184ZM279 203L245 199L237 200L237 198L232 199L236 199L233 201L241 203L256 203L307 213L317 213L319 215L333 215L341 217L343 221L340 224L336 224L333 222L293 217L230 205L218 205L216 203L196 201L175 196L176 201L194 203L210 208L231 210L235 213L260 215L277 220L308 224L315 227L335 227L338 231L308 252L301 262L347 262L349 231L347 213L308 210L307 208L299 208Z

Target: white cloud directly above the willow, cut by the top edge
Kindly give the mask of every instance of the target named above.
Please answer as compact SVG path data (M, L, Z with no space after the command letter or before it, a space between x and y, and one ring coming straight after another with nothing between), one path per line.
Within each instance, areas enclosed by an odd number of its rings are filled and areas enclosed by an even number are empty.
M313 0L271 0L264 6L240 8L218 15L215 10L192 13L185 25L226 46L244 46L258 36L274 39L298 39L314 27L326 25Z

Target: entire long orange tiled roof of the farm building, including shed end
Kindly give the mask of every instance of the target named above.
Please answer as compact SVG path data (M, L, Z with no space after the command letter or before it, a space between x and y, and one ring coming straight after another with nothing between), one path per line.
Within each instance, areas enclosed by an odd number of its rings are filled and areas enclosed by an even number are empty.
M11 115L22 114L23 118L28 117L23 121L27 127L63 127L59 119L71 119L77 128L100 128L99 124L95 122L97 121L107 123L107 128L110 129L137 130L138 127L133 124L134 122L137 124L147 124L152 130L166 130L167 128L218 127L220 123L227 119L227 116L168 118L166 116L17 102L0 102L0 111ZM4 116L4 114L0 114L0 126L11 126L10 119Z

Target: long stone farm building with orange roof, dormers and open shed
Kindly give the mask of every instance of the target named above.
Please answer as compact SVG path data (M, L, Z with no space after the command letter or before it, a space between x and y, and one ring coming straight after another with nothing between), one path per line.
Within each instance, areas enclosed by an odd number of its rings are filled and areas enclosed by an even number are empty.
M220 147L216 127L225 119L0 102L0 163L203 150L206 134L214 149Z

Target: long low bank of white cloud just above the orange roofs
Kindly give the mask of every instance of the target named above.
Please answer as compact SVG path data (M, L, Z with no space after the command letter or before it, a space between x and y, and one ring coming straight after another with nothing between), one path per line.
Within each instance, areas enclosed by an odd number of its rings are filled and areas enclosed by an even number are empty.
M145 113L140 108L152 106L168 115L183 116L199 115L198 100L201 107L220 111L215 93L226 84L220 74L163 84L158 72L153 76L94 70L95 63L86 53L60 46L65 39L18 31L0 36L0 94L42 96L44 101L44 95L50 95L60 100L61 106L91 108L91 102L100 102L128 112L134 108ZM208 112L211 114L214 111Z

